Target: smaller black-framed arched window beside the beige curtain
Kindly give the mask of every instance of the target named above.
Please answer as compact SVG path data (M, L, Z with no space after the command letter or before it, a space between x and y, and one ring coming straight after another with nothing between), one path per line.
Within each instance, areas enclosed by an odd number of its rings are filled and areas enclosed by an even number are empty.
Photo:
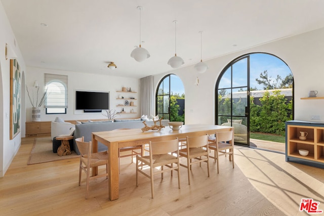
M175 74L168 74L158 83L155 112L159 118L184 122L184 87Z

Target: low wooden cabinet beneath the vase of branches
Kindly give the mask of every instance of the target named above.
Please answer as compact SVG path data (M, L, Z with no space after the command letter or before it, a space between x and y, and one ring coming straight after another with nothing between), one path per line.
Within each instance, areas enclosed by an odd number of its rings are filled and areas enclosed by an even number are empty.
M51 136L51 121L26 121L26 137Z

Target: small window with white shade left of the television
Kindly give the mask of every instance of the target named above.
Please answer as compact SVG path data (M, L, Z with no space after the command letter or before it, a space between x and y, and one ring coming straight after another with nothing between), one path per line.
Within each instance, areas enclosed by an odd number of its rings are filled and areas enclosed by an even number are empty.
M45 74L47 100L46 114L66 114L67 108L67 76Z

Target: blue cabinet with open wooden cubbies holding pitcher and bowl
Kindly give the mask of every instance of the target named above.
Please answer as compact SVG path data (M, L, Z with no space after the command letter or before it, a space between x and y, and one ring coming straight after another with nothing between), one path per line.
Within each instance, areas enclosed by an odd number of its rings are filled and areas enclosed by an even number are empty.
M307 132L306 140L299 138L300 132ZM300 149L308 150L308 155L300 155ZM286 122L286 161L324 168L324 122Z

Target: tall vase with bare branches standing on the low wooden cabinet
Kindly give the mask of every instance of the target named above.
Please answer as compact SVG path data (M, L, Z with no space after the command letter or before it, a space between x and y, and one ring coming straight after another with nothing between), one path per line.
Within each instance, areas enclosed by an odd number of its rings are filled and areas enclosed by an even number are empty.
M26 86L27 95L32 106L31 110L31 120L32 121L41 121L41 106L45 103L47 99L47 89L45 92L39 97L39 84L37 81L34 82L34 88L36 89L36 95L34 96L34 92L31 89L31 93ZM36 100L36 101L35 101Z

